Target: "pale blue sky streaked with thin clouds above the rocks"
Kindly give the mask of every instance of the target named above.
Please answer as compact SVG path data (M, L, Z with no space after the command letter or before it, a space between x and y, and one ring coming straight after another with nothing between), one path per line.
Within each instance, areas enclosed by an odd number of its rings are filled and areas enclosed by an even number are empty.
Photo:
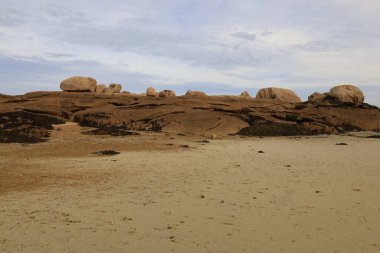
M209 94L338 84L380 106L378 0L0 0L0 93L90 76Z

